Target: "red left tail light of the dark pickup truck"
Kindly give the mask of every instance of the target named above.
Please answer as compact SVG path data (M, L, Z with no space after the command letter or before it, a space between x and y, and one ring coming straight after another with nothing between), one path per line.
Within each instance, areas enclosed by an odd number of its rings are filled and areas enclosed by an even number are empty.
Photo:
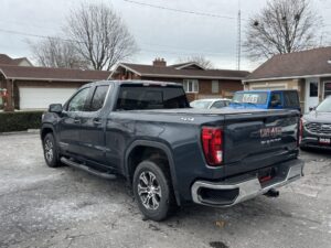
M220 128L203 127L201 132L203 153L207 164L217 165L223 161L223 131Z

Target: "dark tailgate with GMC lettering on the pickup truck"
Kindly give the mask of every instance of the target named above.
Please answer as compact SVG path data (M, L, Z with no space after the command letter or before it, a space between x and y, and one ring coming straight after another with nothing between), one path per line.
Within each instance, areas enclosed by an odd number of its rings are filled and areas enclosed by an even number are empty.
M299 119L291 110L225 115L225 176L296 158Z

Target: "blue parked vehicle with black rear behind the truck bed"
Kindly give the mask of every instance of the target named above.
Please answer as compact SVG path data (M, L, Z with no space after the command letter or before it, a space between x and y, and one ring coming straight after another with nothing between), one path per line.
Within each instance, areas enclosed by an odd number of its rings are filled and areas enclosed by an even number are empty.
M243 90L234 94L231 108L297 109L301 111L297 90Z

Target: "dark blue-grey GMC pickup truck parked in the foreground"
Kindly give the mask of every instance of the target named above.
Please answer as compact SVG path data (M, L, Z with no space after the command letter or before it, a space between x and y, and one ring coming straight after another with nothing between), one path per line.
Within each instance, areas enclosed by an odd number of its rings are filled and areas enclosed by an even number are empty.
M142 214L232 206L302 176L296 110L193 109L181 85L98 82L42 119L45 161L125 176Z

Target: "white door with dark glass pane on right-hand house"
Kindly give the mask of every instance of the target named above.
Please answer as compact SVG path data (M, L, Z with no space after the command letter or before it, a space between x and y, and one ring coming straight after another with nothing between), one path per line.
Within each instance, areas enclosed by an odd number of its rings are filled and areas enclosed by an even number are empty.
M306 103L305 112L309 112L309 108L319 105L319 78L307 78L306 79Z

